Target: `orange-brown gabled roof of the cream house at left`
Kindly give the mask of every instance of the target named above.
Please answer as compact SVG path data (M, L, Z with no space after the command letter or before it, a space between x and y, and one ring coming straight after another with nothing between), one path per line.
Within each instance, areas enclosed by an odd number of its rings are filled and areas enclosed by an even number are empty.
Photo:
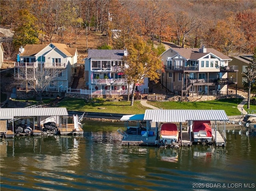
M59 49L61 52L63 52L67 56L74 56L77 52L76 48L69 48L67 47L66 44L61 44L61 43L51 43L51 44L54 45L55 48ZM27 44L24 47L24 52L20 53L20 56L34 56L47 46L49 45Z

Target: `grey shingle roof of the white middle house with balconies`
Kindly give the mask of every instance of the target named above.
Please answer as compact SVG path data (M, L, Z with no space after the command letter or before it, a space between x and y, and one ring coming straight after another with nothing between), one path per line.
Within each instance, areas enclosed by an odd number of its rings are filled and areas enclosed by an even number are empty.
M121 60L124 50L88 49L88 59L111 59Z

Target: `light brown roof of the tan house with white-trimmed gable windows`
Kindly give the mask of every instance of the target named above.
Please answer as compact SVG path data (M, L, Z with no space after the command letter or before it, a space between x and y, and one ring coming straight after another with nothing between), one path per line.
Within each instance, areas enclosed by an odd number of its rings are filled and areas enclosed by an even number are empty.
M206 48L206 53L200 53L199 48L170 48L170 49L179 53L179 55L181 55L182 57L185 57L186 59L191 59L191 60L198 60L210 53L220 58L221 60L232 60L230 57L222 54L221 52L213 48Z

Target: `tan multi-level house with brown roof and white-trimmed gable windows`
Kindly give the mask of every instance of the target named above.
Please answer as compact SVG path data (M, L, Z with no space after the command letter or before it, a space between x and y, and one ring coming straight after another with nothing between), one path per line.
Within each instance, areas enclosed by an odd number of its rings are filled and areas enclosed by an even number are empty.
M228 94L228 85L236 84L228 72L238 72L238 67L228 66L232 59L215 49L170 48L161 57L165 71L160 81L175 95Z

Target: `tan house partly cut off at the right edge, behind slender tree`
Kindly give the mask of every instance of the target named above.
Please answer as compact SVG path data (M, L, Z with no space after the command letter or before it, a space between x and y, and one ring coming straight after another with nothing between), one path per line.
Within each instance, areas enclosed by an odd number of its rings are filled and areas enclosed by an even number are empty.
M253 61L253 54L244 54L244 55L238 55L238 56L233 56L231 57L232 61L228 63L228 65L237 65L238 66L238 73L237 73L237 87L238 88L243 88L244 82L248 82L248 79L244 77L242 73L247 72L247 67L249 66L250 63ZM228 73L229 78L234 77L234 73Z

